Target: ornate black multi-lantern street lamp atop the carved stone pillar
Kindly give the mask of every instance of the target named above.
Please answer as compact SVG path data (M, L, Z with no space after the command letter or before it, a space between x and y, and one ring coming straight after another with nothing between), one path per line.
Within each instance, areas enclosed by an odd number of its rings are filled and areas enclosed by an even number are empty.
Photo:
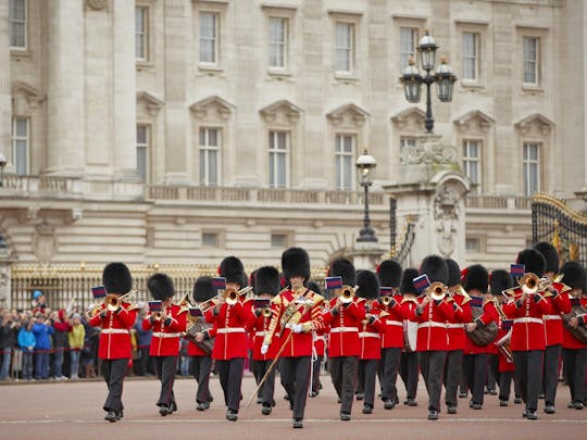
M430 75L430 71L434 71L434 62L438 48L439 47L436 46L434 38L426 32L426 35L420 40L416 48L420 52L422 68L426 71L426 75L422 76L414 66L414 60L410 59L408 67L405 67L403 75L400 77L408 102L420 102L421 86L422 84L426 85L426 121L424 126L426 127L427 133L433 133L434 129L430 86L436 83L438 99L441 102L450 102L452 101L453 84L457 80L457 76L452 73L452 68L447 64L446 56L442 56L440 60L440 65L435 74Z

